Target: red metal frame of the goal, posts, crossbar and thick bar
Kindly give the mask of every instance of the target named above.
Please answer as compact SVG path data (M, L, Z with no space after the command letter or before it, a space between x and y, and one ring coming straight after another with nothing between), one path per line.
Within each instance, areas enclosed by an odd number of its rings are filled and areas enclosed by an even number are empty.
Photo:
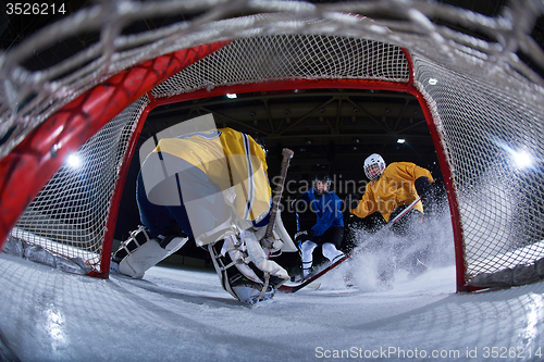
M124 162L120 171L109 210L107 232L103 235L102 241L100 271L94 270L89 273L91 276L101 278L108 278L109 276L109 255L112 251L113 233L123 187L132 158L136 151L136 145L141 128L147 116L154 108L200 98L224 96L226 93L244 93L263 90L319 88L390 90L407 92L415 96L423 111L444 175L446 194L449 202L457 264L457 290L471 290L471 288L467 286L465 276L462 228L449 166L436 126L433 122L430 107L423 95L413 84L413 62L408 50L401 48L409 66L408 83L370 79L288 79L219 86L213 89L199 89L193 92L160 99L154 99L152 97L151 89L154 86L199 59L211 54L226 43L228 43L228 41L218 41L175 51L125 70L84 92L51 115L40 126L36 127L8 157L0 161L0 173L9 175L2 178L0 184L0 199L3 203L2 213L0 214L0 225L2 225L0 247L3 246L9 230L13 228L17 219L24 212L25 207L60 168L64 158L70 152L76 151L113 116L145 95L147 95L150 102L144 108L137 122L136 129L131 136L128 149L124 157ZM70 132L65 129L70 129ZM54 137L51 137L52 135L54 135ZM29 178L27 177L29 174L35 174L37 177Z

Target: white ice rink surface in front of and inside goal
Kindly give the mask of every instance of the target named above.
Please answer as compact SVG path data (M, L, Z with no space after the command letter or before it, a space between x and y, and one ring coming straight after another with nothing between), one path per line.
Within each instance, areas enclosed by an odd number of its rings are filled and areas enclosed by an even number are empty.
M450 265L381 290L362 260L350 266L354 288L338 270L318 290L249 308L212 271L98 279L1 254L3 349L21 361L543 360L543 283L456 294Z

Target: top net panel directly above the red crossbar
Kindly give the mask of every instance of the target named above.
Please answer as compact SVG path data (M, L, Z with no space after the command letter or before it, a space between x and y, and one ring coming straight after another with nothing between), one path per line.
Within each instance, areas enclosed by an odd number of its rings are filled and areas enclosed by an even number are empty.
M285 35L236 40L166 79L151 93L162 98L202 88L286 78L407 83L409 75L406 57L397 46L366 39Z

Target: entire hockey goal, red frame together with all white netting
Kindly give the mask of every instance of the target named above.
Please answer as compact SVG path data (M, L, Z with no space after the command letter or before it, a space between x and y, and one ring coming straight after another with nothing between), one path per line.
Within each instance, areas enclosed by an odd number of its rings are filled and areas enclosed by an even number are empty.
M225 1L102 3L1 54L4 249L47 251L51 263L107 277L124 178L158 105L273 89L385 89L412 93L425 113L458 290L497 285L490 275L510 284L544 276L544 52L532 37L541 2L512 1L494 16L429 1L236 4L258 15L232 17ZM193 17L123 33L172 12ZM46 70L24 67L35 49L88 28L101 34L96 45Z

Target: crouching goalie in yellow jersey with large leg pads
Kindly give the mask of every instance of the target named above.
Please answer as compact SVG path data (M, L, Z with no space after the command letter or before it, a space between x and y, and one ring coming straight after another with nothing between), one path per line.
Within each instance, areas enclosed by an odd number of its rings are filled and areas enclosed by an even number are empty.
M205 117L214 125L211 115ZM289 276L269 255L297 249L280 213L273 225L275 241L268 248L260 245L272 204L265 153L260 137L231 128L160 139L137 179L144 225L112 255L112 269L143 277L193 239L208 249L223 288L233 297L249 304L272 298Z

